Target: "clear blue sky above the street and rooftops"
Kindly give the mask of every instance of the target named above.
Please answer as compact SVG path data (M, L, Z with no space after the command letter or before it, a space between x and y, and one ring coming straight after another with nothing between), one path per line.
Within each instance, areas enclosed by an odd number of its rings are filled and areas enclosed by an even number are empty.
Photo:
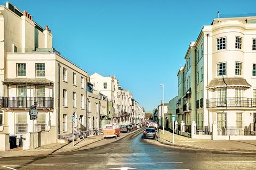
M5 1L0 1L2 5ZM177 73L190 41L220 14L256 12L256 1L12 1L43 28L53 46L90 75L115 75L151 112L178 94Z

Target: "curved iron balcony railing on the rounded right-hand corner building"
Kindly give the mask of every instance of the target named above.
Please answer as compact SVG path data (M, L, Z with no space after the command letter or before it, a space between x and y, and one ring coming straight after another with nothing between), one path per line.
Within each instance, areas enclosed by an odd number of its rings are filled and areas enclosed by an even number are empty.
M228 97L212 98L206 100L207 108L218 107L256 107L256 98Z

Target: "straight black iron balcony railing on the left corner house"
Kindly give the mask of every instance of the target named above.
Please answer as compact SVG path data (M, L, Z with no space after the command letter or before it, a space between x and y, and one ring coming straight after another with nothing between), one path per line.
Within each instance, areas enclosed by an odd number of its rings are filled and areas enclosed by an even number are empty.
M1 97L3 108L30 108L37 102L37 108L53 108L52 97Z

